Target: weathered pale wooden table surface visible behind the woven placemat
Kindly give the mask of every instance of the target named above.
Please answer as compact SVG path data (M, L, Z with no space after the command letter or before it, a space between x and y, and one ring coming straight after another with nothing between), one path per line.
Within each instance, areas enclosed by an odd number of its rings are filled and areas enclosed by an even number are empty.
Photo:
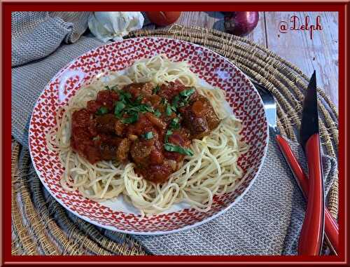
M246 36L247 39L265 46L277 55L302 69L304 74L311 76L314 69L317 74L317 85L338 107L338 14L337 12L260 12L257 27ZM300 28L305 25L305 18L309 16L309 26L315 25L319 18L321 30L310 31L289 30L281 33L281 25L285 21L292 27L292 16ZM223 14L221 12L183 12L179 25L200 26L224 30ZM146 25L147 28L157 28Z

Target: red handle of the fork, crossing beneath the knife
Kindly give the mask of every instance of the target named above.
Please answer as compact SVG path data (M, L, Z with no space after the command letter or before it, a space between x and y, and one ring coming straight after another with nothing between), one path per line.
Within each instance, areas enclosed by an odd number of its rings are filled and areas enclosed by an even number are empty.
M307 175L305 174L302 167L297 162L297 158L295 157L292 149L286 139L281 137L281 135L276 135L277 144L279 144L279 148L281 149L284 158L292 170L294 177L296 178L297 184L302 189L302 193L304 197L307 199L309 195L309 181L307 179ZM337 221L332 217L328 208L325 207L325 235L328 239L328 245L330 245L331 249L335 254L339 252L339 228Z

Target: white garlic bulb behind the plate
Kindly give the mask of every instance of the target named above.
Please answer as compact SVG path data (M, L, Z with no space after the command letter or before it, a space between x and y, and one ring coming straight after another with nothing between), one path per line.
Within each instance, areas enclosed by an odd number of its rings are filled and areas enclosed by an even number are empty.
M99 40L120 41L128 32L141 29L144 16L141 12L94 12L88 21L89 29Z

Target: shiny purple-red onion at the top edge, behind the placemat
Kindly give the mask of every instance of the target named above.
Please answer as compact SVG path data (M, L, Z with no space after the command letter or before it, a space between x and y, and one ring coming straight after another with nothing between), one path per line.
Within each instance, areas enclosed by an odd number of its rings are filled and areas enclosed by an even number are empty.
M225 31L237 36L246 36L258 25L259 13L251 11L225 12Z

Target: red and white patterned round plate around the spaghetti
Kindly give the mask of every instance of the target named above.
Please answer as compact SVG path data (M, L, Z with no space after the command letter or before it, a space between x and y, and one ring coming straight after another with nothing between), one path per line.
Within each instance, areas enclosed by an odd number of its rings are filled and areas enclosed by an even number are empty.
M139 219L125 204L103 205L66 192L59 184L64 171L57 153L48 149L45 134L55 125L57 109L67 103L83 83L106 70L120 71L135 60L165 53L174 61L188 61L191 70L207 83L227 92L233 113L243 121L242 139L250 149L238 163L244 178L232 193L215 196L209 212L178 207L152 217ZM264 107L248 78L232 63L213 51L186 41L165 38L136 38L100 46L73 60L43 90L29 125L29 149L34 167L51 195L67 210L97 226L132 234L164 234L191 228L214 219L237 203L253 183L267 152L268 130ZM119 201L119 200L118 200Z

